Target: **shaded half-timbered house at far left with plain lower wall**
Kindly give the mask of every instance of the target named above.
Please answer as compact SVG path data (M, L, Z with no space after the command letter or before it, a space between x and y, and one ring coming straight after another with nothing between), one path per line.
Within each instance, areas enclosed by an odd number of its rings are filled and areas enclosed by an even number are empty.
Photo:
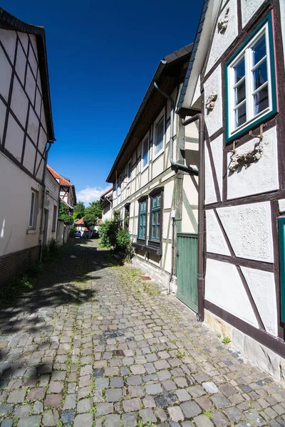
M0 70L0 283L4 283L38 259L46 160L55 137L45 32L1 8Z

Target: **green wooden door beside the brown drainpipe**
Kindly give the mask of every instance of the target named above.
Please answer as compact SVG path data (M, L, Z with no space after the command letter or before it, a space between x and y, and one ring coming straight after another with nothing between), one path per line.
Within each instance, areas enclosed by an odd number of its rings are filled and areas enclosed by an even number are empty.
M176 261L177 298L197 313L197 234L177 233Z

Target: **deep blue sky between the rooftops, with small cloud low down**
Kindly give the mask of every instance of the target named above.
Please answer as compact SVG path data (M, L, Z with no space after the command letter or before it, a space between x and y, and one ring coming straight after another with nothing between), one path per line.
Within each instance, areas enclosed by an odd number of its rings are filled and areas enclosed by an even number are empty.
M2 0L46 29L56 142L48 163L88 202L105 183L161 58L194 41L202 0Z

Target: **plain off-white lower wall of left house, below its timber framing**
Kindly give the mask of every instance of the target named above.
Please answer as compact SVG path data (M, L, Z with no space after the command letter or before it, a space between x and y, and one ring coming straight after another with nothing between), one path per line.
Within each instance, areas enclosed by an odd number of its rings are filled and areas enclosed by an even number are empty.
M38 230L41 186L0 152L0 256L38 245L38 231L26 233L32 188L39 191Z

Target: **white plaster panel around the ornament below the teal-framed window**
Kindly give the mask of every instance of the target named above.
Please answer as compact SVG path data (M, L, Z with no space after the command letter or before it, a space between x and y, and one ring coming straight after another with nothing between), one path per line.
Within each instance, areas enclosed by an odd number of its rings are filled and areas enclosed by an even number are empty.
M257 142L258 139L254 138L241 147L237 147L236 152L242 154L248 149L253 149ZM234 173L227 171L228 199L279 189L276 127L264 132L261 144L263 155L258 162L252 163L247 169L239 167ZM231 162L231 155L231 153L227 155L227 164Z

